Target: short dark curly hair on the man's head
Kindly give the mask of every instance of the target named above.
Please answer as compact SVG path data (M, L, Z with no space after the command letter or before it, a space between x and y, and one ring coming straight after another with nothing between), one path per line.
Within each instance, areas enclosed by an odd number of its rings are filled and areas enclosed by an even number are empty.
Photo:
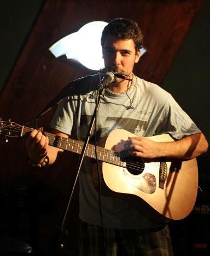
M111 20L106 27L104 27L101 36L101 46L103 47L106 37L108 35L116 36L119 39L133 39L135 43L136 52L142 48L143 35L139 29L137 22L124 18L116 18Z

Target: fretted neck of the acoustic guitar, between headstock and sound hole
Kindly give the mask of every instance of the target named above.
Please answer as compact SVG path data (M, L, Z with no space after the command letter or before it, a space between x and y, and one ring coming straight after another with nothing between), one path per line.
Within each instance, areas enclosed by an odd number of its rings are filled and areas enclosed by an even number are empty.
M30 133L33 130L33 128L22 126L21 130L21 137L26 136L28 133ZM46 133L43 132L45 136L48 136L49 138L49 145L53 147L57 147L59 149L67 150L70 152L81 154L81 151L83 150L84 142L79 140L74 140L70 138L64 138L62 136L58 136L53 133ZM95 146L92 144L88 144L85 156L88 156L90 158L96 159L96 153L97 153L97 159L101 160L103 162L111 163L116 166L125 167L126 163L120 160L119 153L113 151L104 149L103 147Z

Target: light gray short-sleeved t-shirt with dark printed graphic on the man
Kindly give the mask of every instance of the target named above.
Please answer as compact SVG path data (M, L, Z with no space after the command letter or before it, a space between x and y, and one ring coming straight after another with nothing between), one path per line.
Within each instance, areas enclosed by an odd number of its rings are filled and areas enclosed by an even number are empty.
M63 133L77 134L84 140L95 109L98 76L74 81L51 121L51 127ZM136 83L126 94L106 90L97 115L97 139L114 129L125 129L138 136L170 134L174 139L199 133L190 117L180 108L171 94L156 84L136 77ZM129 108L132 105L133 108ZM98 192L92 181L92 163L85 158L80 173L80 213L86 223L101 225ZM160 226L144 217L130 203L101 196L103 223L118 229L145 229Z

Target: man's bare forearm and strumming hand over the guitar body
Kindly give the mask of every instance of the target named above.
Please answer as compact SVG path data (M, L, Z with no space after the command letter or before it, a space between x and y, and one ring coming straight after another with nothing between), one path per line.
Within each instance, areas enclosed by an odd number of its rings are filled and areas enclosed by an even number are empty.
M200 156L208 150L205 136L200 132L172 142L156 142L147 137L132 137L127 141L133 156L142 158L184 158Z

